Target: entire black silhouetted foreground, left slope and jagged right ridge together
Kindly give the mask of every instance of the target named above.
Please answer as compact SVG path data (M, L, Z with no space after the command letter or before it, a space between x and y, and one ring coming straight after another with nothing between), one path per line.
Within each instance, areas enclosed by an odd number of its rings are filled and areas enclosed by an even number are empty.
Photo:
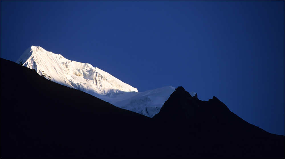
M284 136L178 87L152 119L1 58L1 158L284 158Z

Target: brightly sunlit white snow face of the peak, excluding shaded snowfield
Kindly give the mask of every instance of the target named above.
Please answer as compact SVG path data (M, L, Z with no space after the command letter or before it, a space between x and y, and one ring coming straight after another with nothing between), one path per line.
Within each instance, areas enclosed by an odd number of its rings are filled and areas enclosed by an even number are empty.
M71 61L60 54L41 47L28 48L17 60L38 74L56 83L79 89L86 93L107 95L118 91L138 91L112 75L87 63Z

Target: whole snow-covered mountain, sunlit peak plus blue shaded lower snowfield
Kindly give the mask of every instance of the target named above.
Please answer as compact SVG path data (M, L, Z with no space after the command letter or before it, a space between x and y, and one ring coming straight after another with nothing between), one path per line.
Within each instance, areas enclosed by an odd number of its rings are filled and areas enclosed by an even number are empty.
M91 64L68 60L40 46L29 47L16 63L36 70L48 80L84 91L116 107L150 118L159 113L164 102L175 91L175 87L166 86L138 92L137 88Z

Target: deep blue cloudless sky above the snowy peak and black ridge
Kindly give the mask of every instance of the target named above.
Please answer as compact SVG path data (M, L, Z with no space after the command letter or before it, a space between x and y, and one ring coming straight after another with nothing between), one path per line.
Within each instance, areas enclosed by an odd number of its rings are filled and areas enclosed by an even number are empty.
M1 58L41 46L140 92L172 85L200 100L216 96L284 135L284 1L0 3Z

